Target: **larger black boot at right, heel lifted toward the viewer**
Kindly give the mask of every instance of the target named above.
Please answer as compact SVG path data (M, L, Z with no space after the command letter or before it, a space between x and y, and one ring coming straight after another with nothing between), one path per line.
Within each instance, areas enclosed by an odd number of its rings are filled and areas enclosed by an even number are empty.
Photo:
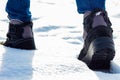
M94 18L102 16L104 24L93 25ZM78 59L85 62L90 69L109 69L110 61L115 56L111 22L107 12L101 9L93 10L84 18L84 47Z

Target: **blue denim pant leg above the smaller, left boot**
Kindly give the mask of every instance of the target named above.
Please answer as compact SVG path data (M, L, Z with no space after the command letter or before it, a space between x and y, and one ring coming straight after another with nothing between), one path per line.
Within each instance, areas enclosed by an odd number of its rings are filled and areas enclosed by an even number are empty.
M30 0L8 0L6 12L10 19L19 19L21 21L30 21Z

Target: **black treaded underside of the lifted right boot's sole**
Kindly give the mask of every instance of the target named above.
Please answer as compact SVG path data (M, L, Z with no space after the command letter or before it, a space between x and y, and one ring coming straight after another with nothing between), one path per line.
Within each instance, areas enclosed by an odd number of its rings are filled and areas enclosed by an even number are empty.
M92 60L88 67L93 70L110 69L110 62L114 58L114 51L111 49L103 49L96 52L92 56Z

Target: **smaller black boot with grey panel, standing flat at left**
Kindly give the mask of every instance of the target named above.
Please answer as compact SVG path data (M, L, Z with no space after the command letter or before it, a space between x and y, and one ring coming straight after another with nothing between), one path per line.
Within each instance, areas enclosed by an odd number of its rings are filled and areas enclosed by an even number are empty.
M32 26L33 23L31 21L23 22L21 24L9 23L7 40L4 45L7 47L19 49L36 49Z

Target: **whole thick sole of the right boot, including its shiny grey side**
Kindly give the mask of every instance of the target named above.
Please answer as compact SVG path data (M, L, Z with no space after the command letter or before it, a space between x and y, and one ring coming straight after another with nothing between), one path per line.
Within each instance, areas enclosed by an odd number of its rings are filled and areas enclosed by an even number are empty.
M109 69L115 56L113 40L100 37L91 42L87 55L82 59L90 69Z

